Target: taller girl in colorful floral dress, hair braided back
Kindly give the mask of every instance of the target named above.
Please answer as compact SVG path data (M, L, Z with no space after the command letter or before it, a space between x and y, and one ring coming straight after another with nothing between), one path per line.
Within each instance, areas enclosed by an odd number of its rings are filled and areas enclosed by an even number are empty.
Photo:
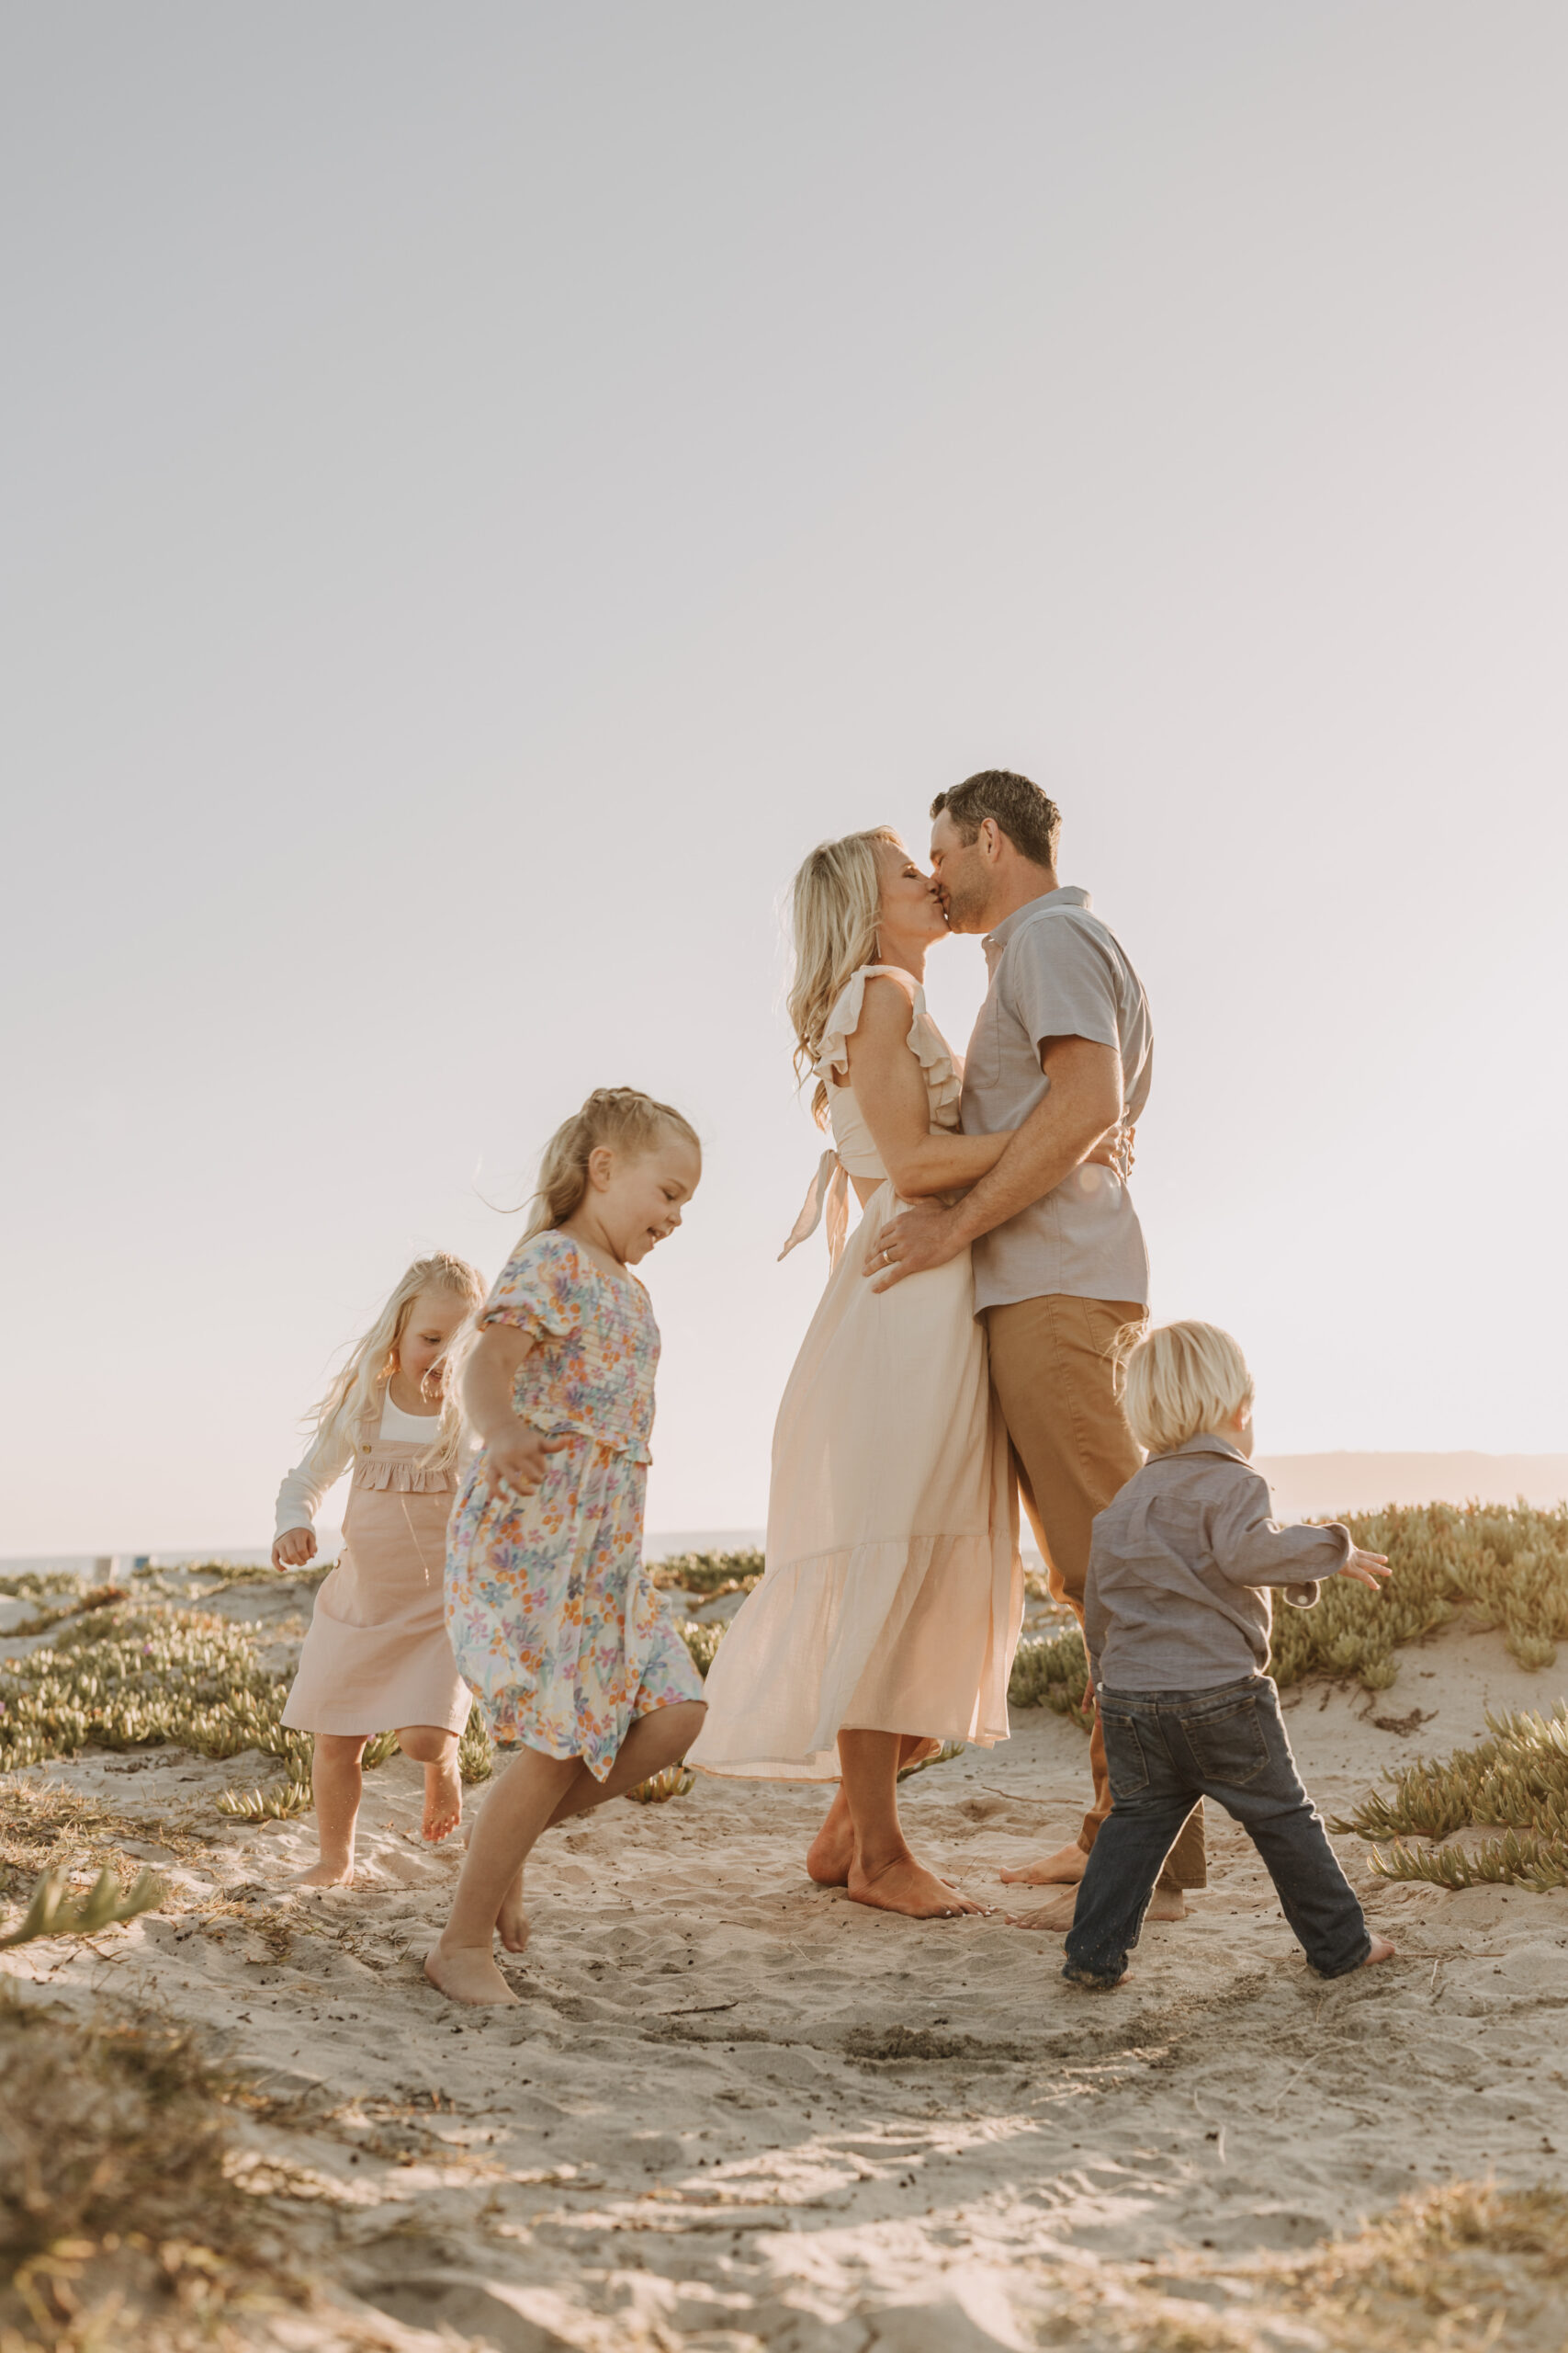
M536 1214L480 1311L463 1395L484 1452L451 1518L447 1628L517 1755L425 1958L458 2002L517 2000L491 1939L527 1944L538 1833L675 1765L703 1722L701 1678L642 1567L658 1325L632 1275L701 1174L679 1111L599 1087L545 1146Z

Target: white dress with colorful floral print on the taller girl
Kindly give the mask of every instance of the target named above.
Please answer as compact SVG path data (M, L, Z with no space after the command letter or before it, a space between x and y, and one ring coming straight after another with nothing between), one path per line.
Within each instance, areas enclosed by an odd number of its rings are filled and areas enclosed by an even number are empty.
M491 1739L583 1758L604 1781L637 1715L701 1699L691 1654L642 1567L658 1325L569 1233L536 1233L501 1271L480 1329L534 1348L512 1405L548 1438L543 1487L489 1494L475 1464L447 1539L447 1633Z

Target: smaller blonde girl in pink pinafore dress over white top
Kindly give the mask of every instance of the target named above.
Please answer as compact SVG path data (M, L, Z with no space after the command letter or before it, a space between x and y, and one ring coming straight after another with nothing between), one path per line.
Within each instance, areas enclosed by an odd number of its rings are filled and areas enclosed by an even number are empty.
M277 1492L275 1569L315 1553L315 1511L353 1471L343 1555L315 1595L284 1725L315 1734L310 1781L320 1861L306 1887L343 1887L355 1875L362 1758L371 1732L397 1732L425 1767L425 1838L456 1831L463 1814L458 1739L470 1694L458 1675L442 1609L447 1520L465 1442L454 1341L473 1320L484 1282L463 1259L418 1259L376 1325L327 1391L317 1431Z

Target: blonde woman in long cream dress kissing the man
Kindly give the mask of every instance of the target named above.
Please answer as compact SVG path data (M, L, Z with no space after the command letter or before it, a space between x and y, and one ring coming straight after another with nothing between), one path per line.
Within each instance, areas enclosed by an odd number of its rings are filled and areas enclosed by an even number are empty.
M811 1878L947 1918L980 1906L910 1854L898 1769L943 1739L1006 1739L1018 1515L969 1252L889 1292L863 1275L903 1202L976 1184L1011 1136L959 1134L961 1071L922 991L947 927L898 835L813 849L792 915L795 1066L835 1151L785 1252L825 1212L832 1273L778 1407L766 1574L712 1664L689 1762L837 1779ZM865 1214L846 1240L851 1186Z

